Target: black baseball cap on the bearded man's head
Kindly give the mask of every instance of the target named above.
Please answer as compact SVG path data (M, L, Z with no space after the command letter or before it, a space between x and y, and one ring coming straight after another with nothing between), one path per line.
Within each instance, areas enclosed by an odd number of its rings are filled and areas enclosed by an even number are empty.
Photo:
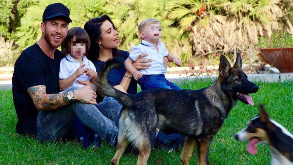
M69 9L61 3L55 3L55 4L50 4L46 7L44 13L43 13L43 21L45 19L51 19L54 17L63 17L66 19L68 22L72 22L71 19L69 18Z

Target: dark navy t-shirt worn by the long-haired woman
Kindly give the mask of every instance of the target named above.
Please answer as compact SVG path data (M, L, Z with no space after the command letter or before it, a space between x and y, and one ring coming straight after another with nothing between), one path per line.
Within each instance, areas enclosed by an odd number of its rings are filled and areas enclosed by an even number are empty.
M121 55L121 57L126 60L129 56L129 53L127 51L123 51L123 50L119 50L119 53ZM91 62L93 62L93 65L95 65L97 73L99 74L100 69L102 66L105 65L104 61L100 61L100 60L91 60ZM122 81L122 78L124 76L126 72L126 69L113 69L110 71L109 73L109 77L108 77L108 81L112 86L115 85L119 85L120 82ZM132 78L132 80L130 81L129 87L127 89L127 93L129 93L130 95L134 95L137 93L137 81L134 80L134 78ZM100 97L100 95L97 96L97 102L101 102L103 100L103 98Z

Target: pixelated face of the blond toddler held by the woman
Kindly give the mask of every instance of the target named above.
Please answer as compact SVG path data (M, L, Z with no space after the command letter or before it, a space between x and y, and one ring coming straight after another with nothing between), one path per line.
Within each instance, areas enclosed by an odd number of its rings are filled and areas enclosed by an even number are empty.
M147 41L159 41L161 38L161 24L153 23L146 26L143 30L144 40ZM142 36L142 35L141 35Z

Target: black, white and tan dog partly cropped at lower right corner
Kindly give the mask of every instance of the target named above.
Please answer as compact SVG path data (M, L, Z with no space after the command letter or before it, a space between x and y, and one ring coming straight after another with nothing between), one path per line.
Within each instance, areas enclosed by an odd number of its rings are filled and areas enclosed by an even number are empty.
M293 135L281 124L270 119L263 105L259 106L259 115L247 122L247 127L234 137L238 141L248 140L246 150L256 154L259 143L270 146L272 165L293 165Z

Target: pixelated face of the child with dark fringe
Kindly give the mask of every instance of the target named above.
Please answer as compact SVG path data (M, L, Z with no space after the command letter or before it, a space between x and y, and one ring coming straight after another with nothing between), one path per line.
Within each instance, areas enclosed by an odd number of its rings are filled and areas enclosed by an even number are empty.
M77 42L78 41L78 42ZM84 42L83 42L84 41ZM69 53L75 58L81 58L86 54L86 39L74 36L71 38L69 45Z

